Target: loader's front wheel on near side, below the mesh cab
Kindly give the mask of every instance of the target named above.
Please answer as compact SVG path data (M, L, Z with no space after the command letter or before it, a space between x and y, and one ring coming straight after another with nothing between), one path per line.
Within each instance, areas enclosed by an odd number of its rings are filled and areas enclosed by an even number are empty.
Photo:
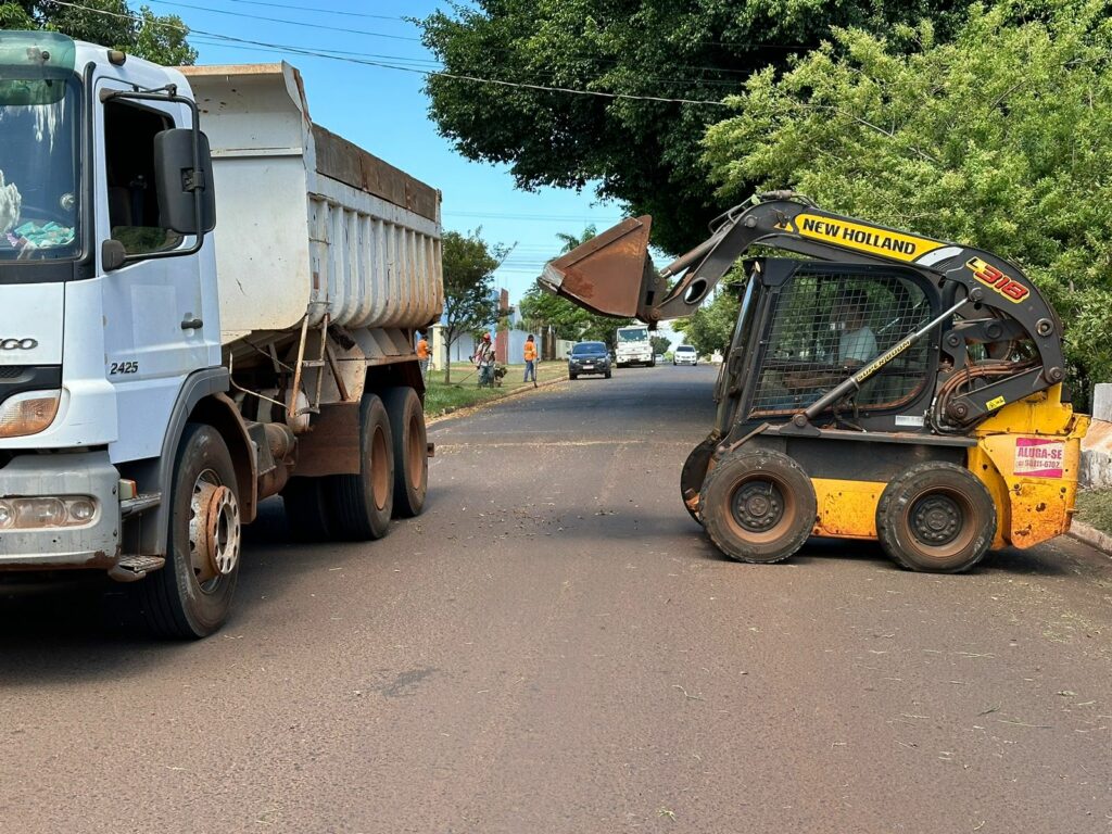
M811 478L787 455L738 450L715 464L703 484L699 516L711 540L738 562L781 562L815 525Z

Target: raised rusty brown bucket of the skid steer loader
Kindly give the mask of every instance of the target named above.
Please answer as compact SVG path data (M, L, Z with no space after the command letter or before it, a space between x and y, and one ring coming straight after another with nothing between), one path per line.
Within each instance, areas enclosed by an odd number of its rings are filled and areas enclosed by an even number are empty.
M545 265L540 286L592 312L649 320L658 276L648 257L648 215L623 220Z

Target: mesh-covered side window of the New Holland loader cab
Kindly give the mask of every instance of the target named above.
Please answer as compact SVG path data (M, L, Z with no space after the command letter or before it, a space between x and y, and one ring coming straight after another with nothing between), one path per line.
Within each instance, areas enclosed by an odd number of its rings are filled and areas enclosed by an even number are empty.
M930 320L925 292L906 277L796 274L775 301L751 415L805 408ZM890 408L914 396L929 350L921 340L881 368L857 391L857 407Z

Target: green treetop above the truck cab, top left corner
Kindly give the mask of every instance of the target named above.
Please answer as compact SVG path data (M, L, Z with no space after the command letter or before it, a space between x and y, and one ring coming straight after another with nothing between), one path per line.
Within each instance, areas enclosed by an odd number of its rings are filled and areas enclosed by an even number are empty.
M82 7L50 0L0 0L0 29L49 29L166 67L197 60L197 51L186 41L189 28L176 14L155 14L147 6L135 14L126 0L87 0Z

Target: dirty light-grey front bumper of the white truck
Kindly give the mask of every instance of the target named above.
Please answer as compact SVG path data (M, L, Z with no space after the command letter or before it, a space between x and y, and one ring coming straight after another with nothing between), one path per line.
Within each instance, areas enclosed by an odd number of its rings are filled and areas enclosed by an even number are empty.
M120 474L107 451L19 455L0 469L0 570L105 568L120 558ZM20 499L91 498L92 517L28 526L11 507ZM46 499L46 500L42 500ZM9 526L2 526L2 525Z

